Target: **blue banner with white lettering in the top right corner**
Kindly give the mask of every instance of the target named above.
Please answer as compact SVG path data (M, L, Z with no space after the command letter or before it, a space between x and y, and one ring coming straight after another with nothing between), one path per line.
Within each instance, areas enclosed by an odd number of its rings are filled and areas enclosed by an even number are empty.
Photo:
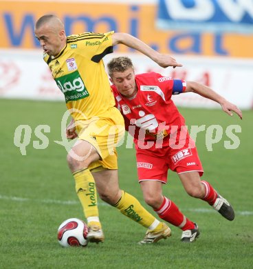
M157 27L253 33L253 0L159 0Z

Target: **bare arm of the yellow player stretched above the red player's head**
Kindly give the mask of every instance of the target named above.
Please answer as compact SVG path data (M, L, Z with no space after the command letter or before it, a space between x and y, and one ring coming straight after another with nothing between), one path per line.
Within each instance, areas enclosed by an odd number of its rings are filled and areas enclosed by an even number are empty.
M153 50L153 48L140 41L140 39L133 37L131 34L116 32L112 35L112 39L113 46L117 44L124 44L130 48L134 48L135 50L138 50L145 54L147 57L151 58L159 66L162 66L162 68L167 68L168 66L173 66L173 68L182 66L181 63L177 63L177 61L173 57L170 57L170 55L161 54Z

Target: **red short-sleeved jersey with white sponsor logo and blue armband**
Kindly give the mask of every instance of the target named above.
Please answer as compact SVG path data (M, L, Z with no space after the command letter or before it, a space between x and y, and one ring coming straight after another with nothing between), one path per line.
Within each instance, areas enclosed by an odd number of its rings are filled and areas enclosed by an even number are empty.
M171 96L184 92L186 81L149 72L137 74L135 83L137 94L132 98L122 96L115 86L111 86L116 106L124 117L125 128L134 137L135 144L162 139L162 146L168 146L170 134L176 134L178 143L180 134L187 135L187 131L181 128L185 126L184 117Z

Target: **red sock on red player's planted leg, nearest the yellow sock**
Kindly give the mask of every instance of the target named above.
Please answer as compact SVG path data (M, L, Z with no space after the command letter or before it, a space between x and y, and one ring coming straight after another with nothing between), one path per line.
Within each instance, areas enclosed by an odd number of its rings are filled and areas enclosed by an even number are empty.
M179 227L181 230L191 230L195 228L195 224L179 211L179 208L177 208L173 201L170 201L166 197L164 197L162 206L155 210L155 212L157 212L161 219Z

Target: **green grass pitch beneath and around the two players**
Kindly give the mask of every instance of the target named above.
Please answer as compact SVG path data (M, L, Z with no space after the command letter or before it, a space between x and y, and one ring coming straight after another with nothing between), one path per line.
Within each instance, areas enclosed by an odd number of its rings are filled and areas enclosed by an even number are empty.
M181 230L170 226L172 237L155 245L138 246L145 229L99 200L100 219L106 240L87 248L62 248L56 239L58 226L70 217L84 219L67 168L61 140L65 104L47 101L0 100L0 268L252 268L252 122L253 112L244 111L243 121L221 110L183 109L188 126L219 124L223 137L208 152L205 132L197 136L199 157L205 174L227 198L236 213L227 221L208 204L186 195L177 175L168 173L164 195L198 223L199 239L180 242ZM32 129L27 155L14 146L14 130L20 124ZM236 150L223 146L225 128L241 126L241 144ZM36 150L34 129L50 126L46 149ZM120 186L144 204L137 183L134 150L118 148ZM150 212L151 208L145 205Z

